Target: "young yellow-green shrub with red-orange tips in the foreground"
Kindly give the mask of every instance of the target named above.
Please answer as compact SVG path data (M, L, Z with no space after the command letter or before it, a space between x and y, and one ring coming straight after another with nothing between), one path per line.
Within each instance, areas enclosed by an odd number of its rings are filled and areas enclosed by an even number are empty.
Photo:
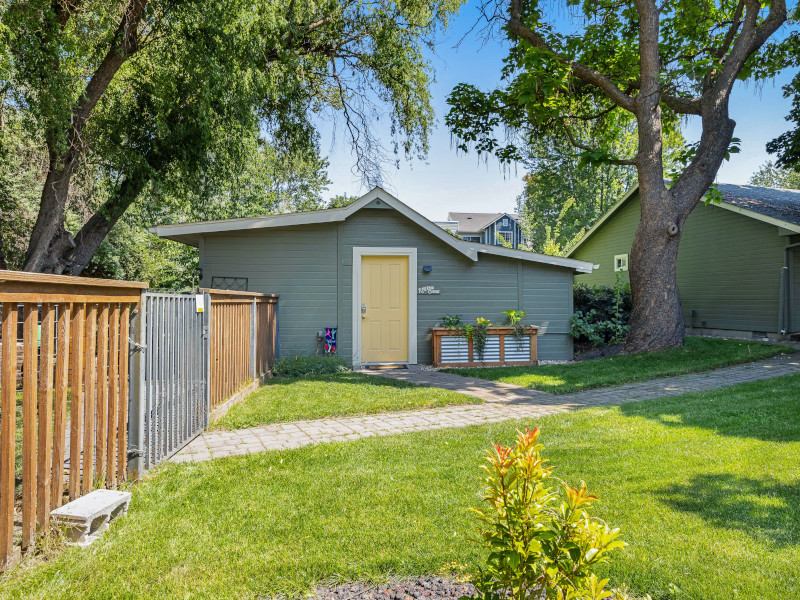
M589 516L597 496L551 474L539 429L488 452L480 539L489 556L475 582L483 600L601 600L607 580L593 569L624 546L619 530ZM551 483L553 482L553 483Z

